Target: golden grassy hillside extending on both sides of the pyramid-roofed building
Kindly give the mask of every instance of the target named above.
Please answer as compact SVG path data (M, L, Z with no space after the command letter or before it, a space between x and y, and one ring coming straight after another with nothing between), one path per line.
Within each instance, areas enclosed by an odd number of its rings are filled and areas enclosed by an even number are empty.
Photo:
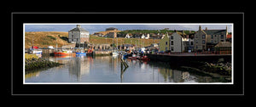
M58 44L58 48L61 48L62 45L69 45L71 43L67 42L68 32L57 32L57 31L38 31L38 32L25 32L25 48L32 47L33 45L38 46L39 48L47 48L48 46L54 46ZM94 44L137 44L138 47L148 46L152 43L159 43L160 40L154 39L138 39L138 38L106 38L106 37L96 37L90 36L90 43Z

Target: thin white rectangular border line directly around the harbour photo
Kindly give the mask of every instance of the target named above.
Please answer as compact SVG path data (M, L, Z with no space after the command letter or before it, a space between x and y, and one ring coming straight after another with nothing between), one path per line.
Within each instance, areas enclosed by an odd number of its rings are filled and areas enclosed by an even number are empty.
M231 82L25 82L25 25L232 25ZM23 84L234 84L234 24L233 23L23 23Z

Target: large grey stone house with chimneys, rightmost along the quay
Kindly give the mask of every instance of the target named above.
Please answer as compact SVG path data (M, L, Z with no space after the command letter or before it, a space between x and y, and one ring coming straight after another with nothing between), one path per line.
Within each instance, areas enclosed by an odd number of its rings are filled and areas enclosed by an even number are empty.
M215 45L218 42L226 42L226 36L228 35L228 27L225 30L205 30L201 29L199 25L199 31L195 33L195 51L213 51Z

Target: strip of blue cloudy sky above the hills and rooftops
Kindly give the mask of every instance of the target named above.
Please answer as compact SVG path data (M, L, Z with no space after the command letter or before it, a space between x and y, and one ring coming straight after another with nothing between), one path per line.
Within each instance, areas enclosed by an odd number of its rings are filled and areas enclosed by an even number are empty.
M170 30L188 30L188 31L198 31L199 25L195 24L26 24L25 31L69 31L76 27L76 25L81 25L86 31L90 31L90 33L94 33L97 31L105 31L108 27L115 27L120 31L124 30L162 30L164 28L169 28ZM215 29L226 29L226 25L228 26L228 31L232 31L231 24L201 24L202 29L206 27L208 30Z

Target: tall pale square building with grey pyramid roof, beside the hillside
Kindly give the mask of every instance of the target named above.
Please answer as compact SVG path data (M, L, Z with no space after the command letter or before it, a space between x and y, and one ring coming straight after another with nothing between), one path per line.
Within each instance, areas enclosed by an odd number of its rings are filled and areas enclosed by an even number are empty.
M84 43L90 41L90 32L84 30L81 25L68 31L68 42L72 43Z

